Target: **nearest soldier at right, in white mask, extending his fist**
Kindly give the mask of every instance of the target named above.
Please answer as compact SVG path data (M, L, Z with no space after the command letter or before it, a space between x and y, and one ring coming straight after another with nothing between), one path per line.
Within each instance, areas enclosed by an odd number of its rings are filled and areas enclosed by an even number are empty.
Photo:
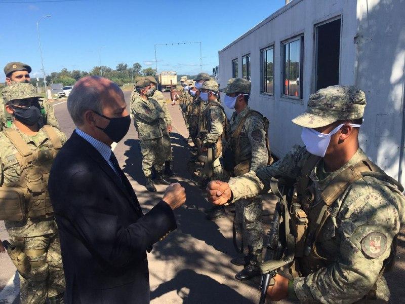
M306 112L293 119L303 127L304 147L229 184L209 185L210 200L222 204L267 192L273 176L296 183L296 214L306 230L296 232L291 218L294 277L276 275L267 291L272 300L339 304L389 299L383 273L395 258L405 198L403 187L359 147L365 106L365 93L353 86L319 90L309 97Z

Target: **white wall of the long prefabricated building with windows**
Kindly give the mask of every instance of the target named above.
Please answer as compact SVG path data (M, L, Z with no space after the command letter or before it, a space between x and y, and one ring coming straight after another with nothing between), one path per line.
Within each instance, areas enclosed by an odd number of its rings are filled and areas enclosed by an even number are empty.
M308 96L315 91L315 25L341 16L339 83L354 84L366 92L369 104L360 132L362 146L372 160L398 178L403 127L403 11L405 2L396 0L293 0L219 52L221 87L232 77L232 59L238 59L241 75L242 56L250 53L250 106L269 118L271 148L282 157L294 144L302 145L301 128L291 119L305 110ZM303 98L285 98L281 97L281 42L298 34L304 35ZM260 50L270 45L274 45L274 96L260 93ZM230 113L227 110L227 115Z

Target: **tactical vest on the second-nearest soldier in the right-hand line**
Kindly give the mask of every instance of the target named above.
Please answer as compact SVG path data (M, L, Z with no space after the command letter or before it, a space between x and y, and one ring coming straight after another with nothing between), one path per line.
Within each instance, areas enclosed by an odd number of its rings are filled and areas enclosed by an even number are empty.
M267 153L268 153L267 165L271 165L273 163L273 158L271 157L271 153L270 153L270 143L269 143L269 136L268 136L270 122L260 112L255 111L255 110L250 110L244 116L244 118L242 118L240 120L239 124L237 125L235 131L232 133L231 138L230 138L230 146L231 146L232 151L234 152L234 160L235 160L234 162L236 164L235 169L238 171L238 175L245 174L245 173L249 172L249 170L250 170L250 161L252 159L252 155L247 155L243 158L240 156L240 133L242 131L242 128L245 125L246 120L252 115L259 117L260 120L263 121L264 129L266 131L266 148L267 148Z

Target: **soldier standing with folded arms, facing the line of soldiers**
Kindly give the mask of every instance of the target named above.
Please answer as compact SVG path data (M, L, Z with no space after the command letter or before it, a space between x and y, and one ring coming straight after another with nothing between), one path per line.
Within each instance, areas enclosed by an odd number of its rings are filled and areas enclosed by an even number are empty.
M152 83L149 80L137 81L135 88L140 96L136 97L132 103L131 112L141 145L142 170L147 178L146 188L150 192L156 192L151 176L152 166L156 170L155 182L169 184L163 177L163 165L166 161L163 136L167 132L165 111L152 98L155 90L152 89Z

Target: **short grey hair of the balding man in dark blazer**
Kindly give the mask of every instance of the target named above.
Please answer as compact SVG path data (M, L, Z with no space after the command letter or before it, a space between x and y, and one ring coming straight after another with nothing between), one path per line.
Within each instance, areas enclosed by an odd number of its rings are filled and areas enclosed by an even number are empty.
M102 113L102 96L95 86L84 86L83 83L73 86L67 97L67 110L73 123L78 126L84 124L83 115L87 110Z

